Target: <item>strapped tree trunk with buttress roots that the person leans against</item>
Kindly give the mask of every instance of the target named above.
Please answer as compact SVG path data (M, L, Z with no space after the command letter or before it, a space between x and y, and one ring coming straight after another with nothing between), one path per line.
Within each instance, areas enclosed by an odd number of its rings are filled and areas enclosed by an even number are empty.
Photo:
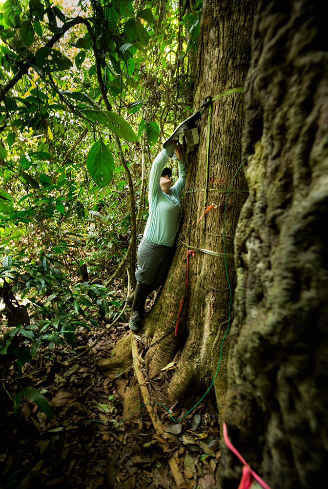
M198 44L198 81L194 112L202 100L225 90L242 87L250 62L250 35L255 1L204 1ZM177 335L174 328L155 346L150 347L145 363L149 377L156 376L177 352L181 357L169 384L169 403L179 401L177 409L190 407L210 386L220 357L220 346L228 328L230 292L223 258L223 224L227 190L241 162L241 134L244 124L242 92L219 98L211 107L209 162L207 162L208 109L199 122L200 144L197 161L188 163L187 184L176 252L166 282L154 307L147 315L141 335L158 341L175 323L186 283L186 255L189 256L188 285ZM196 164L196 168L195 168ZM193 190L193 175L194 192ZM248 196L242 171L234 178L225 216L225 243L229 280L234 289L234 230L240 209ZM191 207L192 203L192 207ZM205 205L215 204L201 219ZM190 222L190 228L189 228ZM190 232L190 243L189 243ZM207 254L196 248L213 251ZM215 253L218 253L215 255ZM102 361L103 370L117 368L117 356L128 354L126 340L117 346L116 357ZM219 374L214 388L221 412L227 390L226 362L228 337L223 344ZM137 391L131 403L139 404ZM125 398L124 415L132 411Z

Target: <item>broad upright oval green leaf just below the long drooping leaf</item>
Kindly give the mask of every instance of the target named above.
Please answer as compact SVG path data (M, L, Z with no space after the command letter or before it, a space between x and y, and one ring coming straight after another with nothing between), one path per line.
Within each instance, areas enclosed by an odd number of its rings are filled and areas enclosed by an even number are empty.
M113 155L100 136L88 153L88 172L96 185L105 187L113 177L114 167Z

